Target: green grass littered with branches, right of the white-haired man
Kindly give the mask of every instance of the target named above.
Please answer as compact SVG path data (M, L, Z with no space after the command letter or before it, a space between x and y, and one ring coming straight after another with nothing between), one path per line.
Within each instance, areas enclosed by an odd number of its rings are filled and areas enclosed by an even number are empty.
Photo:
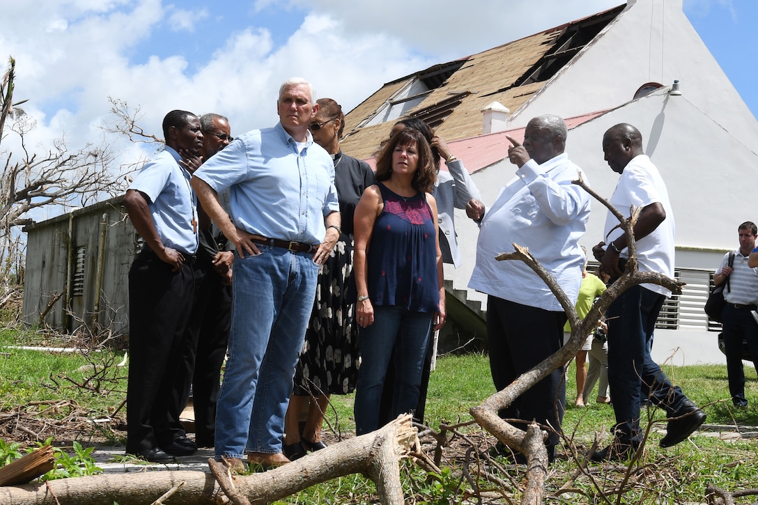
M731 406L728 394L725 365L672 366L662 365L666 375L685 394L706 410L708 425L725 425L724 431L735 425L758 425L758 379L753 367L746 365L746 394L750 406L735 409ZM575 364L568 370L566 387L567 409L563 421L565 437L582 453L589 449L596 434L603 447L609 443L612 426L615 424L612 406L594 403L594 397L584 408L573 405L576 395ZM494 393L490 377L490 365L487 356L442 356L437 360L437 369L432 372L429 384L426 421L432 428L442 422L465 422L471 419L468 409L480 403ZM337 409L340 429L350 432L355 429L352 422L353 395L333 396L332 403ZM631 467L631 476L624 488L620 503L700 503L705 500L706 486L734 491L756 488L758 483L758 442L750 438L731 438L722 440L713 436L713 432L700 431L675 447L662 449L658 442L666 428L661 409L651 408L642 411L644 428L653 422L649 440L641 460ZM334 414L330 415L334 424ZM731 428L729 428L731 427ZM478 431L472 426L471 431ZM490 442L495 439L490 437ZM566 444L564 444L565 447ZM580 461L583 457L580 456ZM550 503L616 503L619 495L609 489L621 485L625 478L626 466L597 466L590 463L585 472L578 472L580 461L573 460L564 452L563 458L550 468L547 487L556 497ZM523 477L523 467L508 467L508 475L500 475L508 480L518 481ZM559 488L568 481L568 476L578 472L572 481L573 492L566 493ZM415 500L435 502L434 491L428 484L424 472L418 467L404 466L402 469L406 496L411 493ZM456 475L459 475L458 472ZM462 488L470 486L460 482ZM452 484L448 484L452 486ZM492 485L482 483L484 488ZM439 487L438 487L439 489ZM350 490L346 492L346 490ZM324 503L328 497L330 503L366 503L375 498L375 488L371 481L360 476L349 476L337 481L315 486L287 500L287 503ZM518 503L520 494L510 495ZM458 497L460 500L461 497ZM505 502L497 502L505 503Z

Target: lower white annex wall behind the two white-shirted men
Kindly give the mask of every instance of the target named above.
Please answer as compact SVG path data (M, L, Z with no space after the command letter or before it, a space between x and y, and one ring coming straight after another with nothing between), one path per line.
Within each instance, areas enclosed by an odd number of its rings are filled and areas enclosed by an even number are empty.
M645 151L666 180L676 220L677 267L715 269L723 251L738 245L738 224L758 222L753 204L758 154L711 121L687 96L669 96L662 90L569 130L569 158L606 197L619 176L603 160L601 142L609 127L622 122L641 131ZM514 174L515 165L506 159L472 177L484 203L492 205ZM587 250L603 240L607 214L600 202L593 202L592 209L580 242ZM457 270L448 268L446 278L464 288L475 264L478 227L456 211L456 231L464 261ZM478 293L469 293L469 298L484 300Z

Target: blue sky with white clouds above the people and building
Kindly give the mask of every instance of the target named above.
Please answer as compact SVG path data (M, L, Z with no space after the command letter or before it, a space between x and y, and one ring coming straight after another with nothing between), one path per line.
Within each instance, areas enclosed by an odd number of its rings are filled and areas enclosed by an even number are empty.
M276 121L287 77L308 78L349 110L396 77L622 1L30 0L4 6L0 56L16 58L16 99L30 99L30 137L41 144L63 133L71 145L99 141L109 96L139 108L154 133L172 108L226 114L240 133ZM758 115L758 1L666 2L683 2Z

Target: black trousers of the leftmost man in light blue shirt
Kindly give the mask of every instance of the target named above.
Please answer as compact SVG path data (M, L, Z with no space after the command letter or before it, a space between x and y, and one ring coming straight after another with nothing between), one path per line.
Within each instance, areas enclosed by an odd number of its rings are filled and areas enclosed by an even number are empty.
M177 371L194 285L190 262L172 272L149 250L130 268L127 453L170 444L184 434Z

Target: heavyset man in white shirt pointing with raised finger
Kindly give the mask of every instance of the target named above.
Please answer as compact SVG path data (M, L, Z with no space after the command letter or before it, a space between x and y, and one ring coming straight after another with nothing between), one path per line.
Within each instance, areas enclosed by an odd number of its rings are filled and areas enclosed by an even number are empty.
M550 288L522 262L495 256L526 246L575 303L584 252L578 245L590 217L590 196L572 180L587 177L565 154L567 128L554 115L527 124L523 145L508 137L509 160L518 167L490 209L469 202L468 217L480 222L477 259L468 287L487 293L487 343L490 370L498 391L562 346L565 312ZM485 212L486 211L486 212ZM535 384L511 406L505 419L536 420L560 431L565 406L562 368ZM558 434L546 441L552 461ZM523 457L523 456L521 456ZM519 456L517 455L517 460Z

